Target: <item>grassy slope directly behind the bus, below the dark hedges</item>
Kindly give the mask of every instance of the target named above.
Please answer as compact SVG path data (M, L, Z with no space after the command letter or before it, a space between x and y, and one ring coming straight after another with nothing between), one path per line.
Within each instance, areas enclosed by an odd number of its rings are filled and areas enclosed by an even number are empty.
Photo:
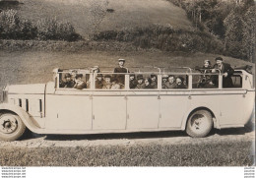
M92 67L95 65L114 68L118 58L133 66L202 66L205 59L213 63L213 54L178 54L160 51L86 51L86 52L4 52L0 53L0 88L5 84L46 83L52 80L52 70L59 68ZM245 61L224 57L232 66L250 64Z

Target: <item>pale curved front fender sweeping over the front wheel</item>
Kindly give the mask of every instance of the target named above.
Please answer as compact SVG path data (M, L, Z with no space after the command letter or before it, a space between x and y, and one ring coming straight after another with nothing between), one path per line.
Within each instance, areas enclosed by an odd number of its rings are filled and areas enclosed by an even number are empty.
M39 129L37 126L35 126L32 123L31 116L23 108L16 105L8 104L8 103L1 103L0 112L8 112L8 111L14 112L18 116L20 116L22 121L26 125L26 127L28 127L32 132L36 133L36 130Z

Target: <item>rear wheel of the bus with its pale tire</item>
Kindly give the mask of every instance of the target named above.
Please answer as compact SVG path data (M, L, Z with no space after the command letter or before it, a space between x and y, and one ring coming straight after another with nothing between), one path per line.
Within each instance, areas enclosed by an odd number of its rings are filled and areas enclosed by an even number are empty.
M213 128L213 116L207 110L197 110L190 114L186 132L193 138L206 137Z

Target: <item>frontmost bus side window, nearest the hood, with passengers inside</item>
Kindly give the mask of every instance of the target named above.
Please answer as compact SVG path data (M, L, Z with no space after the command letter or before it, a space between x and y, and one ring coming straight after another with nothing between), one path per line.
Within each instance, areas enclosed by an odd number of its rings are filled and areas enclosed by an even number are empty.
M63 89L90 89L90 74L77 72L59 73L59 88Z

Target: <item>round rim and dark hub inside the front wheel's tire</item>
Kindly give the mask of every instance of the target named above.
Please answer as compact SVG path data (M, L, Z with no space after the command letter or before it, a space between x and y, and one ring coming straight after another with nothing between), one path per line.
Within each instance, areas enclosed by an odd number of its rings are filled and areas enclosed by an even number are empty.
M0 132L11 134L18 128L17 120L14 116L0 117Z

